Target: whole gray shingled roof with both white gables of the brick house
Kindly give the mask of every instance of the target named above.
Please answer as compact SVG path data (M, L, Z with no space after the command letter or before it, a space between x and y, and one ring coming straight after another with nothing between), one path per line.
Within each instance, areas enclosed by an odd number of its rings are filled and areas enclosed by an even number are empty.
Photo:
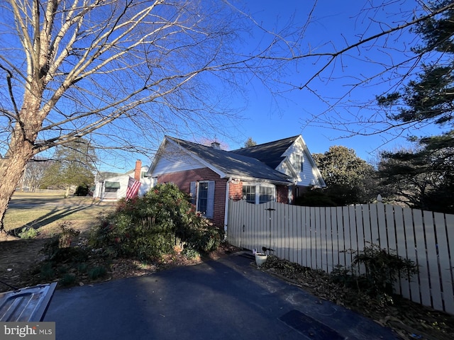
M301 166L297 171L298 162L294 164L297 160L309 167ZM211 169L221 178L326 186L301 135L232 151L165 136L149 175L201 167Z

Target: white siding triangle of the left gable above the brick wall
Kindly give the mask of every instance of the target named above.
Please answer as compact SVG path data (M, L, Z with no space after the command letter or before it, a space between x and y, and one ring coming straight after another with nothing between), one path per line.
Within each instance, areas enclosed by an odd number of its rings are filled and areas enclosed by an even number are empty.
M187 152L182 152L177 147L167 143L165 149L158 154L157 163L150 174L151 177L168 174L176 171L201 169L206 166L191 157Z

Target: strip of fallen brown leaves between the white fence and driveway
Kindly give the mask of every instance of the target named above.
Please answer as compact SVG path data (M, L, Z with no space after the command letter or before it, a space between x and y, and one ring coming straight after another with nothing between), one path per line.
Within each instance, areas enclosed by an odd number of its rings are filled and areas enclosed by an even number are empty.
M402 339L454 338L452 315L432 310L402 297L393 296L393 305L380 305L365 293L334 284L328 273L299 266L276 256L268 256L260 269L289 280L323 300L329 300L370 317L378 324L394 329Z

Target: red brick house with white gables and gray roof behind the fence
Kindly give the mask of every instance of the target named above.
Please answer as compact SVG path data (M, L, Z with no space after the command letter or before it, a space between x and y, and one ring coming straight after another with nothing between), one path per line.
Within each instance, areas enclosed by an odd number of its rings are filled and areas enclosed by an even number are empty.
M148 176L153 184L175 183L224 228L229 198L292 203L309 186L326 186L301 135L233 151L165 136Z

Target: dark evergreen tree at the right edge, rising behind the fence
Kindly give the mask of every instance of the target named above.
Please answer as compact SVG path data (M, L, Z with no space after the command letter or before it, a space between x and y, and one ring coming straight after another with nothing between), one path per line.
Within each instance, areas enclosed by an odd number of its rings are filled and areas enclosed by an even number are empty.
M451 1L436 1L435 9ZM438 136L416 138L416 150L385 152L380 176L389 198L411 207L453 212L454 130L454 9L421 21L414 32L423 45L416 54L432 53L433 62L423 65L418 77L400 91L377 97L388 117L401 123L436 124L448 127Z

